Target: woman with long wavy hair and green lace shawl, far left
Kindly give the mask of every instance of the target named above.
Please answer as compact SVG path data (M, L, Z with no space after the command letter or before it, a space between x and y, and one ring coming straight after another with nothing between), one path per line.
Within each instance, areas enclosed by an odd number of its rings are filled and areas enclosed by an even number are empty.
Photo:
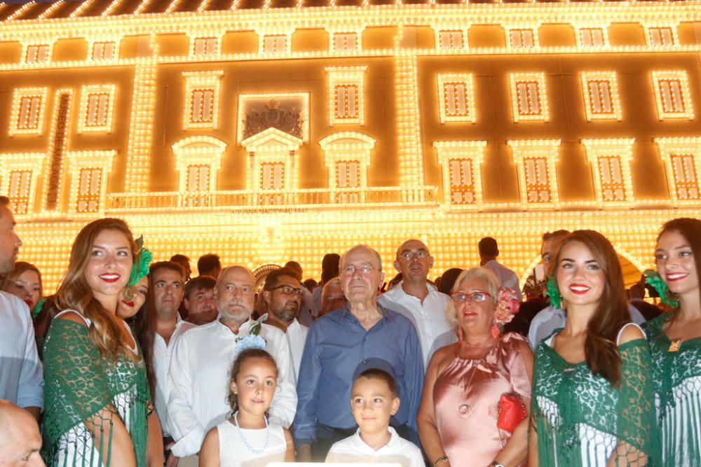
M42 455L49 466L163 465L144 359L115 312L138 267L118 219L86 225L73 244L44 344ZM137 267L135 266L137 264Z

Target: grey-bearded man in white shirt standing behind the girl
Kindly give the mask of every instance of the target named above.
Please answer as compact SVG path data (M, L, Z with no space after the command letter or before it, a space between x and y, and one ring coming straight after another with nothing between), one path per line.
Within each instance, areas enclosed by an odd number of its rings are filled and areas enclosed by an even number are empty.
M250 339L259 328L266 350L278 366L270 418L289 428L297 407L290 344L275 326L251 319L255 279L245 266L224 268L215 288L219 319L188 330L178 340L170 364L168 414L175 445L172 452L182 458L180 467L197 466L205 433L224 421L231 412L229 370L239 342Z

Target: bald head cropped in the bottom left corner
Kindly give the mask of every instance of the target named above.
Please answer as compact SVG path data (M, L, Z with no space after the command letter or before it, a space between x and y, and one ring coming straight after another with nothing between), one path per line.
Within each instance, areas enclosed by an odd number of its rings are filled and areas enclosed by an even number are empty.
M0 400L0 467L43 466L41 435L27 410Z

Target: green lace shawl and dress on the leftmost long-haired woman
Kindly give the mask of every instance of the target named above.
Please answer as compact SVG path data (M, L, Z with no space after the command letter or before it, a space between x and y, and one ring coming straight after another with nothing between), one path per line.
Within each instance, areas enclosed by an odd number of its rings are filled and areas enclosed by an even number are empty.
M139 353L138 346L133 351ZM111 435L103 433L95 445L84 423L102 424L106 416L121 419L137 466L145 466L151 405L143 359L138 364L124 357L116 363L100 359L86 326L54 319L44 344L44 380L42 456L47 466L110 467Z

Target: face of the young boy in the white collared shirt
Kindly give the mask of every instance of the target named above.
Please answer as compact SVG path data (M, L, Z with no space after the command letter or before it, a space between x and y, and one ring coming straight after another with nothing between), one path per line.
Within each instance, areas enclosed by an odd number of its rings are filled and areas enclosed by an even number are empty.
M363 433L387 431L390 417L399 410L399 398L382 379L360 377L353 384L351 410Z

